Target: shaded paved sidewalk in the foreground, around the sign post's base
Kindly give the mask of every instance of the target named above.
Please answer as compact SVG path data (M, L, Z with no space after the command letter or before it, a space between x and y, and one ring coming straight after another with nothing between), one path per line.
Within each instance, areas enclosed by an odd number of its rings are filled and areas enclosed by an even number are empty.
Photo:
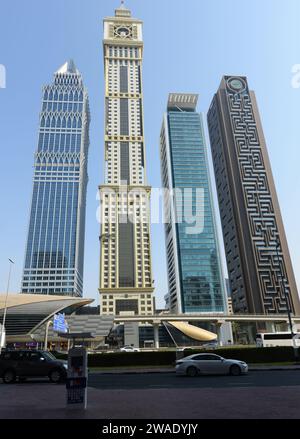
M150 422L173 419L178 422L178 419L229 418L299 419L299 386L129 390L89 387L87 410L66 408L63 385L46 382L1 387L0 422L2 419L148 419Z

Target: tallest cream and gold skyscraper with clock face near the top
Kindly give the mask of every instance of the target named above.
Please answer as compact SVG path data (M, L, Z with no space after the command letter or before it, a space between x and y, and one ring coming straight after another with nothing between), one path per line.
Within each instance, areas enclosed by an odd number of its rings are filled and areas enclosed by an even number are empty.
M152 314L143 128L142 22L122 3L104 19L105 184L100 186L102 314Z

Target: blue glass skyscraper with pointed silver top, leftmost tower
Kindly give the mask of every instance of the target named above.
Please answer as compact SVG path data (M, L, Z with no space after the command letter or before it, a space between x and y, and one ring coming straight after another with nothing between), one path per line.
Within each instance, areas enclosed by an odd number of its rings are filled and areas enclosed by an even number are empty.
M23 293L82 296L89 102L73 61L43 89Z

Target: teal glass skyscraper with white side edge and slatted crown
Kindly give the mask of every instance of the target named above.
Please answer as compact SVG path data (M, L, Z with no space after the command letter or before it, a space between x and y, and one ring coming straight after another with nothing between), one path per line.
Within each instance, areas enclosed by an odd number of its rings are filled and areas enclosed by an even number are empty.
M169 95L160 137L171 312L225 312L202 116L198 95ZM173 191L173 195L169 191Z

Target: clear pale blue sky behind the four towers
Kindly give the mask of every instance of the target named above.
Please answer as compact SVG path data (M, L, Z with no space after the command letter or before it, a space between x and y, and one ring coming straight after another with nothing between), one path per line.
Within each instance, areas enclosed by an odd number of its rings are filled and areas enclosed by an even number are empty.
M41 88L73 58L89 90L91 145L84 295L98 303L97 186L103 183L102 19L119 0L1 0L0 64L0 291L8 258L11 291L20 291L37 143ZM148 180L161 185L159 132L169 92L199 93L206 114L224 74L246 75L255 90L300 289L299 0L127 0L144 21L144 109ZM164 233L152 227L153 272L159 306L167 292Z

